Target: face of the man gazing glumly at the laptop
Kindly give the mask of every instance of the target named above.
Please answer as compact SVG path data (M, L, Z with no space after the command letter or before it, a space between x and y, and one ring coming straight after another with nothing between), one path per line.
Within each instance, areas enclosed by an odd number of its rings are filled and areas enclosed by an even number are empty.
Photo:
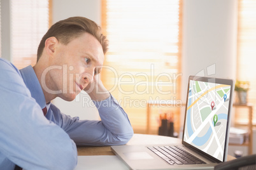
M76 37L67 45L59 42L50 60L50 65L56 69L49 71L48 87L60 91L57 95L60 98L74 100L93 81L94 76L101 72L103 61L103 48L89 33Z

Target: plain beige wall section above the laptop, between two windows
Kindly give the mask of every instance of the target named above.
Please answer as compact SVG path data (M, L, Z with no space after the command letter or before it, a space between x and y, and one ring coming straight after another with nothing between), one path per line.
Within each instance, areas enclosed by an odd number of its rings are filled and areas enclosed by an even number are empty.
M237 0L183 0L183 103L189 75L236 79L237 13Z

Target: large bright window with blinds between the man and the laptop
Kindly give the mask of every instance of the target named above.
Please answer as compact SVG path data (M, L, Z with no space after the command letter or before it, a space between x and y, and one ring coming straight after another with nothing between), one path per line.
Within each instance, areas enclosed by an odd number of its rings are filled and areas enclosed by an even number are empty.
M180 100L181 1L103 0L102 15L110 41L103 83L129 114L134 131L145 133L147 102Z

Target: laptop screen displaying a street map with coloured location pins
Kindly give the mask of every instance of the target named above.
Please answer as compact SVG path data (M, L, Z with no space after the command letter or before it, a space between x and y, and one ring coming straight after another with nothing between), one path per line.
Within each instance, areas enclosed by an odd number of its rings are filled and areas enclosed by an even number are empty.
M231 96L232 82L189 79L183 141L220 161L227 152Z

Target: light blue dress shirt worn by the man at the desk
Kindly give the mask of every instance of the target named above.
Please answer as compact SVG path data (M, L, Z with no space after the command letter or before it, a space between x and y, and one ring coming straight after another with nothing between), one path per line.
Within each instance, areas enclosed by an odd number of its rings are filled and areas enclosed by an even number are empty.
M133 130L122 107L112 96L94 103L101 121L62 114L46 105L31 66L18 70L0 58L0 169L74 169L76 145L127 143Z

